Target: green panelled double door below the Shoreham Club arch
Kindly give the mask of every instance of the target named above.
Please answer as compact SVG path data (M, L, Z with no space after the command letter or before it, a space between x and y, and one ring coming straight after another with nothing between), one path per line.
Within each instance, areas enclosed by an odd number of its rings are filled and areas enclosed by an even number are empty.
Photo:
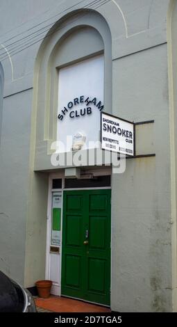
M110 190L64 191L61 294L110 305Z

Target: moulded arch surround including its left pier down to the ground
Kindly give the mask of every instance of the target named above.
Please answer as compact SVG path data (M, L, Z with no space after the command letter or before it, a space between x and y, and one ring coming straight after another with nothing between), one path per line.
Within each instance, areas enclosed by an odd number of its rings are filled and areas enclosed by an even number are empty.
M56 141L58 67L104 54L104 104L112 110L112 43L106 20L91 10L60 19L44 38L35 61L31 124L30 175L26 220L26 287L44 279L46 268L48 171L50 145ZM46 171L46 173L34 173ZM33 235L33 237L31 237ZM36 250L37 249L37 250ZM37 265L36 265L37 262Z

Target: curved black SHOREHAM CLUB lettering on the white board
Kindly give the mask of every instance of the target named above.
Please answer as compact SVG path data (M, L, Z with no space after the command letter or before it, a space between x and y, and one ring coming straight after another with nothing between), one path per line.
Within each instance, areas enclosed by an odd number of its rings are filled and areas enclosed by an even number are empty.
M78 104L83 104L82 109L73 110L75 106ZM92 106L95 106L96 109L102 111L104 106L96 99L96 97L90 98L81 95L80 97L75 97L72 101L68 102L67 106L64 106L62 111L58 114L58 119L63 120L65 115L69 115L70 118L78 118L84 115L91 115L92 114Z

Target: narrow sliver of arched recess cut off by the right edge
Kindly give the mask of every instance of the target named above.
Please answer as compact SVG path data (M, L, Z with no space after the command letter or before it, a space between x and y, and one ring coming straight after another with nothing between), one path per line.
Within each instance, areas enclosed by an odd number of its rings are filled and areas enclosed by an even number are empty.
M171 0L167 15L169 73L169 131L171 161L172 310L177 312L177 1Z

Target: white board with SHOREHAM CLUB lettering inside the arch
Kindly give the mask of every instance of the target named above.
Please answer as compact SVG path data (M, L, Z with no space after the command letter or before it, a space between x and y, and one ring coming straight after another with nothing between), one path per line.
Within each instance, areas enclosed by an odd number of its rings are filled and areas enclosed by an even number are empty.
M63 67L58 75L58 152L94 147L99 141L100 113L103 110L104 57L85 59ZM78 149L79 150L79 149Z

